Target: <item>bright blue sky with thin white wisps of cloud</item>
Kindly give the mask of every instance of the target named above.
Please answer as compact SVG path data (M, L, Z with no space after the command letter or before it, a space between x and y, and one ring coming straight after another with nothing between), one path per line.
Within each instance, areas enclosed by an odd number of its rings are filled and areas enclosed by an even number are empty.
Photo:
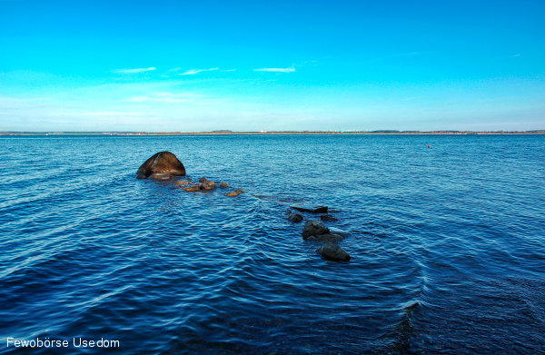
M543 1L0 0L0 131L545 129L544 14Z

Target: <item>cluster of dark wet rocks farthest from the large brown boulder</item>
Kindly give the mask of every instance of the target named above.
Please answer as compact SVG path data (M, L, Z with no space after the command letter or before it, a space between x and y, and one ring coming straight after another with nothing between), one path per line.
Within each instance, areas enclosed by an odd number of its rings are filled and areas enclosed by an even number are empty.
M327 207L315 208L290 206L300 212L327 213ZM301 214L288 210L288 220L291 222L302 222ZM327 228L322 221L337 221L331 214L322 214L321 220L308 220L302 228L302 239L305 241L322 242L322 246L316 250L323 259L329 261L350 261L351 256L344 251L336 242L342 242L344 237L350 233L338 228Z

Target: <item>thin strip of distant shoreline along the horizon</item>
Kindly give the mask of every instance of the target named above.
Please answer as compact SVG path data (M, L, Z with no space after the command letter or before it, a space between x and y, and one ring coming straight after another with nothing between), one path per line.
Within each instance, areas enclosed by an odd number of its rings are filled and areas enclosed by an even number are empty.
M0 132L6 135L38 135L38 136L70 136L70 135L98 135L98 136L154 136L154 135L515 135L515 134L545 134L545 130L535 131L272 131L272 132Z

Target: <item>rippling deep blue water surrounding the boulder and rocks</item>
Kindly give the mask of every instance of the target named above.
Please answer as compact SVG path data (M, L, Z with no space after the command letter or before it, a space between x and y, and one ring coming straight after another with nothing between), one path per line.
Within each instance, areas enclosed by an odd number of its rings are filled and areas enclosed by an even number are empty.
M15 351L8 337L104 338L145 354L545 349L545 136L0 146L2 353ZM246 193L135 179L163 150L187 178ZM340 245L352 261L324 261L302 240L286 220L295 203L337 211L327 224L351 232Z

